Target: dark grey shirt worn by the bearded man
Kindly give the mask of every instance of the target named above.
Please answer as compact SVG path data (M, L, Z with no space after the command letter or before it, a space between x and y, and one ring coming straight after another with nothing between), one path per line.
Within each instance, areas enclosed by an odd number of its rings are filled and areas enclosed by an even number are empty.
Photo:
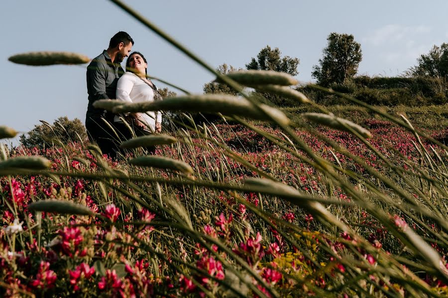
M124 74L123 69L118 63L112 63L106 50L92 60L87 67L89 105L87 106L86 122L92 117L105 116L103 109L96 109L92 104L98 99L116 98L116 83L122 74Z

